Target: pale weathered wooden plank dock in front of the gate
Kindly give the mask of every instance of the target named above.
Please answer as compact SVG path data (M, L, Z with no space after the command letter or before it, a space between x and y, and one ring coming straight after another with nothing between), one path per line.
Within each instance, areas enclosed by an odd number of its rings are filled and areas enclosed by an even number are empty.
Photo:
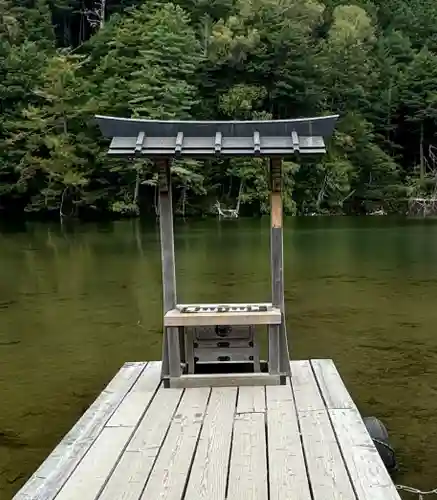
M400 500L331 360L270 387L160 369L125 364L14 500Z

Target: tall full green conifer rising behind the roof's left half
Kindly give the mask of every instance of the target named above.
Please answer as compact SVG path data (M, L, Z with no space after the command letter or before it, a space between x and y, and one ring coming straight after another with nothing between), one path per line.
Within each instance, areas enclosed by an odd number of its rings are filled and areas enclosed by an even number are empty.
M143 5L113 29L110 50L95 71L100 109L121 116L189 117L197 101L196 72L203 56L185 12L170 3ZM137 161L132 169L114 162L111 170L127 186L113 208L137 212L139 185L151 177L150 165ZM174 175L184 200L191 191L202 191L203 177L194 164L180 163Z

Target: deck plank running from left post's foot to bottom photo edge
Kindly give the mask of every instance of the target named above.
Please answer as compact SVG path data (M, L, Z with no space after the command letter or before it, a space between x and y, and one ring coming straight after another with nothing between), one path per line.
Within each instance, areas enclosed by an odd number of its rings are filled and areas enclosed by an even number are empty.
M182 389L160 389L157 392L99 500L140 498L182 392Z

